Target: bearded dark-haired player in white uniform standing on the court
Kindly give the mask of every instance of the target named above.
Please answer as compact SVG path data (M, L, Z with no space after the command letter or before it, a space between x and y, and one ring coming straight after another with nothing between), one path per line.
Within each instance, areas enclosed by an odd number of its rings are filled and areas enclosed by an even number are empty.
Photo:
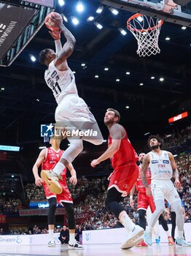
M144 241L148 245L152 245L152 227L157 222L158 217L165 210L164 199L171 204L176 212L176 225L178 227L176 244L180 246L191 246L184 240L184 218L182 203L176 188L180 188L179 172L171 152L163 151L160 149L163 141L160 137L152 135L149 137L148 146L151 148L148 154L145 155L141 166L141 178L146 187L147 195L153 195L156 210L152 214L147 231L144 233ZM147 184L147 168L151 170L151 187ZM174 184L171 181L174 176ZM175 185L175 187L174 187Z

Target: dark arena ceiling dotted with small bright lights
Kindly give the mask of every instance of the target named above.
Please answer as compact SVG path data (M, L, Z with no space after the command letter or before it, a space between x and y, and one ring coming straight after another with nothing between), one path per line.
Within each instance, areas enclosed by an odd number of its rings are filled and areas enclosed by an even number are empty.
M79 96L85 99L101 129L106 132L102 124L109 107L120 111L131 137L156 132L168 126L168 118L189 110L190 28L164 23L159 39L161 53L139 57L136 39L126 29L126 20L133 13L120 10L113 15L104 6L97 14L100 1L82 2L85 10L81 14L75 9L77 0L66 0L63 7L57 4L55 11L68 18L65 25L77 39L69 66L76 72ZM90 15L95 20L87 22ZM79 19L77 26L71 23L73 16ZM94 22L101 23L103 29ZM123 36L119 29L127 34ZM55 99L44 83L44 67L30 58L32 54L38 59L44 48L54 48L45 26L10 67L0 67L1 142L40 140L40 124L55 121Z

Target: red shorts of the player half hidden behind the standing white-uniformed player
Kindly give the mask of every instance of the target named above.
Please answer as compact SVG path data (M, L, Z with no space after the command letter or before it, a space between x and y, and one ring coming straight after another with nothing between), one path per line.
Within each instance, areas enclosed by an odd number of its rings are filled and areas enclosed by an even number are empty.
M155 203L153 197L148 197L146 193L138 192L137 209L144 209L147 211L148 206L151 208L151 212L155 211Z

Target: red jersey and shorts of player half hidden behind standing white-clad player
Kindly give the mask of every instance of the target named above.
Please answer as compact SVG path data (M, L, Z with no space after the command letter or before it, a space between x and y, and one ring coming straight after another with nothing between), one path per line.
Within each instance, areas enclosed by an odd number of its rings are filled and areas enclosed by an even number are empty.
M151 184L151 173L149 169L146 172L147 183ZM152 213L155 211L155 203L153 197L148 197L146 194L146 188L141 180L141 167L139 165L139 176L136 181L136 190L138 191L138 202L137 208L147 210L148 206L150 206Z

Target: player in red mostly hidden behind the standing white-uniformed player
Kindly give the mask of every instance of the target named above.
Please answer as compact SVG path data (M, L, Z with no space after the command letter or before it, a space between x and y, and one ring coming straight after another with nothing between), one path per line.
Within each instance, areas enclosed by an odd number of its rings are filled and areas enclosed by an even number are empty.
M134 184L134 186L132 187L132 189L130 190L130 206L133 207L133 194L135 192L135 188L138 191L138 202L137 202L137 209L138 209L138 213L139 213L139 225L141 227L144 228L144 230L146 230L146 212L147 212L147 208L150 207L151 212L153 213L155 211L155 202L153 200L152 195L147 195L146 192L146 188L144 187L144 184L142 183L142 179L141 179L141 165L143 162L145 154L141 153L139 154L139 176L137 178L136 184ZM147 183L150 185L151 184L151 173L149 171L149 169L147 169L146 171L146 177L147 177ZM160 223L163 226L163 230L165 230L165 233L168 236L168 245L174 245L174 240L173 238L170 236L170 233L168 231L168 225L166 220L163 218L163 215L161 214L159 217ZM158 234L156 238L156 244L160 244L160 236L158 236ZM144 243L144 240L141 241L140 244L137 244L137 246L147 246L147 244Z

